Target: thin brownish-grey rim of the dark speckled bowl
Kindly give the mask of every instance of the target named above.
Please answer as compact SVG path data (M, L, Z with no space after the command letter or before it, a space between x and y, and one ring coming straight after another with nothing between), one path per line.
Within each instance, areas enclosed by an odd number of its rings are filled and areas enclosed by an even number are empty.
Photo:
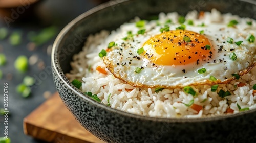
M128 113L128 112L124 112L124 111L121 111L121 110L118 110L118 109L114 109L114 108L108 107L108 106L106 106L106 105L104 105L102 103L99 103L99 102L93 100L92 98L90 98L88 96L85 96L82 93L82 91L80 91L75 86L73 86L66 76L62 76L62 75L65 75L65 74L61 70L60 65L59 64L57 64L57 65L55 64L55 63L58 63L58 61L56 61L57 60L57 55L58 55L57 51L59 49L59 45L60 45L63 37L65 37L65 35L68 33L68 31L71 30L72 28L74 28L74 25L76 25L76 23L81 21L83 18L86 18L87 16L89 16L89 15L91 15L91 14L97 12L97 11L103 10L105 8L116 6L116 5L120 5L121 3L126 2L126 1L129 1L129 0L117 0L115 3L111 2L111 1L105 2L103 4L100 4L100 5L92 8L91 10L89 10L87 12L82 13L81 15L79 15L78 17L73 19L70 23L68 23L68 25L65 26L60 31L58 36L56 37L56 39L55 39L55 41L53 43L52 54L51 54L51 64L52 64L52 67L53 67L52 70L56 71L56 73L57 73L58 77L61 79L61 81L63 83L65 83L66 86L68 88L70 88L73 92L75 92L77 94L77 96L79 96L83 100L89 101L90 103L92 103L95 106L98 106L100 108L104 108L105 110L108 110L108 111L110 111L112 113L115 113L115 114L120 114L120 115L127 116L127 117L137 118L137 119L140 119L140 120L157 121L157 122L168 122L168 123L170 123L170 122L173 122L173 123L209 122L209 121L215 121L215 120L224 120L224 119L227 119L227 118L235 118L235 117L238 117L238 116L243 116L244 114L251 114L251 113L255 113L256 112L256 109L252 109L252 110L248 110L248 111L239 112L239 113L236 113L236 114L216 115L216 116L204 117L204 118L163 118L163 117L150 117L150 116L143 116L143 115L132 114L132 113ZM256 2L253 2L251 0L238 0L238 1L243 1L243 2L247 2L247 3L251 3L251 4L256 5ZM58 70L57 70L58 68L61 70L61 73L58 72Z

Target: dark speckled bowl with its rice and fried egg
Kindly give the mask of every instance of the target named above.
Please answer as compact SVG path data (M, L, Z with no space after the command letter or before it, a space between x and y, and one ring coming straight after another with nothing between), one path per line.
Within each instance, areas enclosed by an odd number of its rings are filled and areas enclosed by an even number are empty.
M255 142L255 13L255 1L106 2L59 33L55 85L105 142Z

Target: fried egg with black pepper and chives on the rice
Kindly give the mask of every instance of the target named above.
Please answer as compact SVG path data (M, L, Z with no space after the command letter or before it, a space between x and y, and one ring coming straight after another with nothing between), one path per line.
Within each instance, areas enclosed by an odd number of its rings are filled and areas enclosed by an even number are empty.
M127 23L108 39L115 44L103 57L104 64L116 78L135 87L229 83L256 65L256 26L246 24L245 18L220 18L209 22L206 13L193 22ZM139 22L144 24L138 26Z

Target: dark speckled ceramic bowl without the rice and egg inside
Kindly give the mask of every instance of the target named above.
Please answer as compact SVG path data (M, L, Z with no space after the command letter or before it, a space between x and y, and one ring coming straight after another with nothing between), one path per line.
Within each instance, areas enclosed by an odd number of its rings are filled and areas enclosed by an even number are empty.
M238 0L140 0L110 1L69 23L58 35L52 51L52 71L61 99L77 121L106 142L256 142L256 110L199 119L167 119L134 115L102 105L75 88L66 78L70 61L81 51L89 34L114 30L139 16L146 19L160 12L231 12L256 19L256 2Z

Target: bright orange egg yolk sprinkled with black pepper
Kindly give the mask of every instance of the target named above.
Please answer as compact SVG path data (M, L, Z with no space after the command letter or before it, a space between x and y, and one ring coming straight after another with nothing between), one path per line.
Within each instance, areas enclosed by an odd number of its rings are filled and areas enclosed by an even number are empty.
M148 39L143 48L143 56L151 62L172 66L209 61L213 51L204 35L187 30L163 32Z

